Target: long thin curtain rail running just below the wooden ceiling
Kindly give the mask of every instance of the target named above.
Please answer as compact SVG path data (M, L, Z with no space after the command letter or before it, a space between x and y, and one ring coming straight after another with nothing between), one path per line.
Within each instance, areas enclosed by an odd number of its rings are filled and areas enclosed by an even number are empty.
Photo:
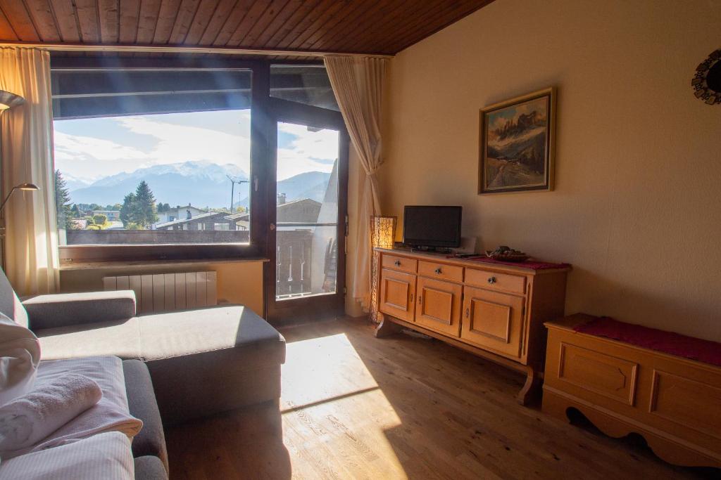
M120 53L218 53L223 55L277 55L279 57L373 57L393 58L394 55L373 53L322 52L304 50L265 50L262 48L186 47L182 45L101 45L85 43L2 42L0 47L42 48L51 52L120 52Z

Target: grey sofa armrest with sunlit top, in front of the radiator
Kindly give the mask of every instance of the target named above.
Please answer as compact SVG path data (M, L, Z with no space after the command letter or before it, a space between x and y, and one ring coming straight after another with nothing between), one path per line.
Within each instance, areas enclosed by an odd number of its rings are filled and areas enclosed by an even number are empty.
M125 320L136 315L132 290L38 295L24 299L22 306L32 330Z

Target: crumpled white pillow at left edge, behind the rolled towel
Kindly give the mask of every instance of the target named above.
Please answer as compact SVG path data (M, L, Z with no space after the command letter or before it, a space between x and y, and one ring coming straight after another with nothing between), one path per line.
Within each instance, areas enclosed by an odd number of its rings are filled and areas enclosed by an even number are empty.
M37 337L0 314L0 406L30 391L38 363Z

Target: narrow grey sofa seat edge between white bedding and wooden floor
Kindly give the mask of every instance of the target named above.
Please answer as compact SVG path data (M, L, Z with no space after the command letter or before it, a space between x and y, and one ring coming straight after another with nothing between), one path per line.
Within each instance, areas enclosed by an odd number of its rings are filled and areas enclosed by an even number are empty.
M128 392L128 407L131 415L143 420L143 430L133 438L133 456L158 457L167 470L168 454L163 423L160 420L148 367L138 360L125 360L123 373L125 373L125 390Z

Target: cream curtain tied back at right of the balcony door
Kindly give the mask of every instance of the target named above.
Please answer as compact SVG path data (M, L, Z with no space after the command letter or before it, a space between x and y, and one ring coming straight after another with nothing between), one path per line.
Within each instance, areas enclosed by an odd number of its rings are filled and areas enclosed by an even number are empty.
M371 302L370 217L381 213L376 173L381 158L381 101L386 72L384 58L331 56L325 58L328 77L338 101L345 127L361 160L358 189L358 251L353 266L351 294L363 309Z

